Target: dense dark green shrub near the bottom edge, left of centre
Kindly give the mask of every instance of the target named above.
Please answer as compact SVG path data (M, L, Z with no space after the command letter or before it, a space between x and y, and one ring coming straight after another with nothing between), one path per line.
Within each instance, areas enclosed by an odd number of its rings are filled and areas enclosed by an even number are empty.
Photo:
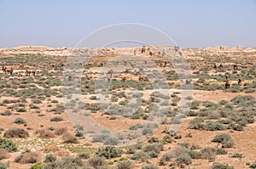
M112 158L121 156L122 149L112 147L112 146L102 147L97 149L96 155L101 157L103 156L107 159L112 159Z

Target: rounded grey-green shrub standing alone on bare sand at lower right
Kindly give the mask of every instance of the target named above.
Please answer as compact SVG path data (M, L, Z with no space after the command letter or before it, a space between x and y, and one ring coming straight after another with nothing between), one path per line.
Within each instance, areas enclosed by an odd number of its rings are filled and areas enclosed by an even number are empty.
M214 136L212 142L217 142L223 145L224 148L231 148L235 145L233 139L228 133L220 133Z

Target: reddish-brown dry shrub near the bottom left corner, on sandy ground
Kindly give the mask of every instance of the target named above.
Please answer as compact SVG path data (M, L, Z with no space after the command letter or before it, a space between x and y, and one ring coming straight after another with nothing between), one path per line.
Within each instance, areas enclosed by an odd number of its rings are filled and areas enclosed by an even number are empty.
M15 162L19 163L36 163L38 161L38 153L32 151L24 151L15 158Z

